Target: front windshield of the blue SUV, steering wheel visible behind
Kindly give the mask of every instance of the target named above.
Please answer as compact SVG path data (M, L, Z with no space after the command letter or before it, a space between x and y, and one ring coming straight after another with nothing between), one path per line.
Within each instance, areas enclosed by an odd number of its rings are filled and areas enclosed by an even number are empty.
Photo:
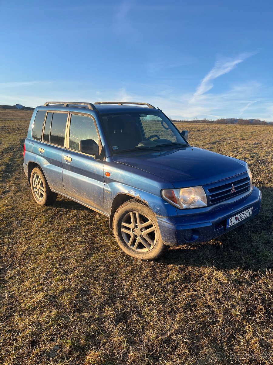
M101 114L112 153L137 149L164 149L188 145L173 123L162 113Z

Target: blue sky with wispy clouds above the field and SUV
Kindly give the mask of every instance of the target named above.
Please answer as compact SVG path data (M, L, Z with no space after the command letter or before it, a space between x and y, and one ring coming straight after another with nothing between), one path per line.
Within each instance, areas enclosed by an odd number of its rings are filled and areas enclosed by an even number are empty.
M0 0L0 104L273 120L273 2Z

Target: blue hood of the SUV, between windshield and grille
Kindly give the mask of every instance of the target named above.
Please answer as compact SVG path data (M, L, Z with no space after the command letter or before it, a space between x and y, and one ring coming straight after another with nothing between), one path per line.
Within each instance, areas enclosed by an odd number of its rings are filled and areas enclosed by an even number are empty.
M170 181L175 188L206 185L246 172L247 163L197 147L115 155L114 161Z

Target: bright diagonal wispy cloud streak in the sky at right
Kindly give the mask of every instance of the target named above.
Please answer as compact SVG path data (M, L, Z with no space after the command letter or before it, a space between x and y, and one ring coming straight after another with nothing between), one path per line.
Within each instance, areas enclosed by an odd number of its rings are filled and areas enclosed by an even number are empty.
M222 58L221 60L215 62L214 67L210 70L209 73L201 80L198 88L196 89L193 98L190 100L194 102L197 97L203 95L205 92L209 91L213 87L213 80L215 78L222 76L231 70L233 70L238 64L243 62L246 58L256 54L257 52L252 53L242 53L238 55L236 58Z

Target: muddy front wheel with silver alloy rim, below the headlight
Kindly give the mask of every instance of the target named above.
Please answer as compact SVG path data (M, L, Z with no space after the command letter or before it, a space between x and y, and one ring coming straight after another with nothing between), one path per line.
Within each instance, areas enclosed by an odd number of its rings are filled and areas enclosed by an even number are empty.
M142 260L155 260L170 247L162 242L154 213L136 199L120 205L114 215L113 231L119 247Z

